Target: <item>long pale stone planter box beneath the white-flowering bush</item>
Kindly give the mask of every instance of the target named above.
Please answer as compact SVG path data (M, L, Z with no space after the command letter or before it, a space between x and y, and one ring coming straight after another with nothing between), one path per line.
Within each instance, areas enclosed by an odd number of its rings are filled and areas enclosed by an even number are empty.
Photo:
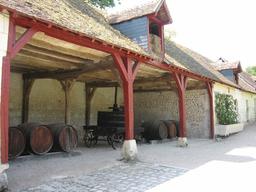
M243 123L231 125L215 125L214 133L219 136L229 136L230 134L241 132L244 129Z

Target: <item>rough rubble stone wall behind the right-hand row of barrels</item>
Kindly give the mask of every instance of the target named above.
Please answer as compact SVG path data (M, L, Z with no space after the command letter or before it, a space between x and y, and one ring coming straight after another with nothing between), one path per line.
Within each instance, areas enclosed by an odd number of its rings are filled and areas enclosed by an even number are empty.
M210 138L210 104L207 90L185 92L188 138ZM179 120L179 102L174 92L133 94L134 126L157 120Z

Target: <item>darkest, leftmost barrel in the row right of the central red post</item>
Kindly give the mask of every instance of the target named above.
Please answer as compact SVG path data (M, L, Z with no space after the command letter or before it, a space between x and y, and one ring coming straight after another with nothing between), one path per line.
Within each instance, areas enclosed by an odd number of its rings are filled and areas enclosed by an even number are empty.
M146 139L164 140L168 135L166 125L162 121L148 121L141 124L145 131L143 137Z

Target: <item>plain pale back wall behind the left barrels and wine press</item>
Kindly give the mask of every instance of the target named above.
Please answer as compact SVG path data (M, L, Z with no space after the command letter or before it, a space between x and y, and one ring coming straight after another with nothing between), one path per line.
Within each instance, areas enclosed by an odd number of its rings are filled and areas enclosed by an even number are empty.
M21 73L11 73L9 123L18 125L22 121L23 80ZM85 84L76 82L70 93L70 124L78 132L79 140L84 138L85 125ZM91 101L91 125L97 125L98 111L111 111L115 99L115 88L98 88ZM118 88L117 104L123 103L123 91ZM42 124L65 122L65 92L59 81L36 79L29 100L29 122Z

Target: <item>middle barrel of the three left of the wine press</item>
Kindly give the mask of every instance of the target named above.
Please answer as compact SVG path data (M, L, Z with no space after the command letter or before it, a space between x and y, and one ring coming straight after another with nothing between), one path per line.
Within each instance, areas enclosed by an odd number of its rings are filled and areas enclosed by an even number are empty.
M53 134L47 125L36 122L19 124L18 127L26 135L26 153L42 155L47 153L53 144Z

